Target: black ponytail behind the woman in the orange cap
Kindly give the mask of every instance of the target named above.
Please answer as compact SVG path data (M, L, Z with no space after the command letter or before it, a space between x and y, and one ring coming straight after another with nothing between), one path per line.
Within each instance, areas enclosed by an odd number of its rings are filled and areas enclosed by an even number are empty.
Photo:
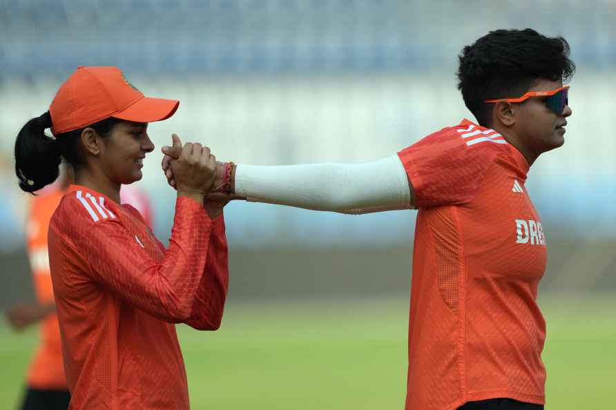
M59 175L61 152L57 140L45 133L51 128L49 111L24 125L15 141L15 173L19 188L34 193Z

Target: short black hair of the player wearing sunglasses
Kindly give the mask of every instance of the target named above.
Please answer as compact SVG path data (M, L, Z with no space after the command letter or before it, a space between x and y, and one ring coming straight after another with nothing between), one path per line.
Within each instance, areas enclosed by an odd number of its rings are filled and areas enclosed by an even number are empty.
M463 48L458 89L481 126L490 126L492 107L486 99L521 97L539 79L568 80L575 72L563 37L535 30L495 30Z

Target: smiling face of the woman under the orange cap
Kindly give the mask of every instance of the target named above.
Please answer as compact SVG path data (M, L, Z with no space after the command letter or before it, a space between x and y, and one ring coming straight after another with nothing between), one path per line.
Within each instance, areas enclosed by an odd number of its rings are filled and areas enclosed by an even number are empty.
M100 161L110 181L132 184L142 179L143 159L154 150L147 131L146 123L122 121L102 139Z

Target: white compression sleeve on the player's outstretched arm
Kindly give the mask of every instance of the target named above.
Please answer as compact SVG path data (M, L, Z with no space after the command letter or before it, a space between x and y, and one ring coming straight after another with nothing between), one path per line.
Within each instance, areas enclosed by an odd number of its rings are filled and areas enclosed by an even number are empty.
M398 155L366 164L238 164L235 195L253 202L340 213L412 208L412 189Z

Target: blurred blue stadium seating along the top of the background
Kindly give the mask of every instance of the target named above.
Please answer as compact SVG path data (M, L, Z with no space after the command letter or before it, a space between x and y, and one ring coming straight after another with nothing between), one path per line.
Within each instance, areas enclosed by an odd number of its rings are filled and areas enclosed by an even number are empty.
M1 75L112 61L197 75L433 70L485 30L566 35L579 61L616 64L613 1L2 0ZM523 23L522 23L523 22Z

